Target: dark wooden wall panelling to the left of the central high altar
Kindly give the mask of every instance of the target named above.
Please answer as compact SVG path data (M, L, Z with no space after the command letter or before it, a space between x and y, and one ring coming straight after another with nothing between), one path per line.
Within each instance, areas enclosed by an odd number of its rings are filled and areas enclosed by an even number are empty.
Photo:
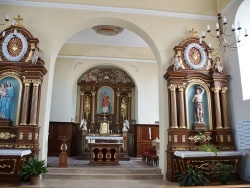
M67 139L68 156L77 155L77 125L73 122L50 122L48 156L58 157L61 152L62 139Z

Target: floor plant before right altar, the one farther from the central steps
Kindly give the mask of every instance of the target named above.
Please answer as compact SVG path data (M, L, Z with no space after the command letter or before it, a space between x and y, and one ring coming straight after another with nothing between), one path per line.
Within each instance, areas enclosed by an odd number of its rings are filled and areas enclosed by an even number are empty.
M222 185L227 185L228 180L231 179L232 173L236 172L236 168L233 165L218 162L215 167L212 168L213 177L220 178Z

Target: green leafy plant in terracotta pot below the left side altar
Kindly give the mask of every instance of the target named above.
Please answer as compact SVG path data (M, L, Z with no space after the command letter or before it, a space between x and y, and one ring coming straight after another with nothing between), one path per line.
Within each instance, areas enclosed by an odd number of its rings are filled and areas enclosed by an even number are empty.
M36 185L38 184L39 176L46 172L48 172L48 169L45 161L40 161L37 159L37 156L34 156L24 162L18 175L24 180L30 178L31 184Z

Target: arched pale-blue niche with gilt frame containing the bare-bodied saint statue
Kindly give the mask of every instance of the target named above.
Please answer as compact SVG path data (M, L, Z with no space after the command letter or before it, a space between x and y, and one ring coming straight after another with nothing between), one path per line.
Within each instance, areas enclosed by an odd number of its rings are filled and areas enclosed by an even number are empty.
M210 128L209 97L207 87L201 84L193 84L187 87L187 125L189 129L194 129L195 123L205 124Z

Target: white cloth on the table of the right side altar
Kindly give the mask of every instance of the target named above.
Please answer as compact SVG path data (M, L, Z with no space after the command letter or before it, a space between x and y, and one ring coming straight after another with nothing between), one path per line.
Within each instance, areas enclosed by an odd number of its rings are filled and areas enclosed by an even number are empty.
M175 151L175 156L181 158L190 158L190 157L213 157L213 156L238 156L245 155L242 151L220 151L217 155L214 152L205 152L205 151Z

